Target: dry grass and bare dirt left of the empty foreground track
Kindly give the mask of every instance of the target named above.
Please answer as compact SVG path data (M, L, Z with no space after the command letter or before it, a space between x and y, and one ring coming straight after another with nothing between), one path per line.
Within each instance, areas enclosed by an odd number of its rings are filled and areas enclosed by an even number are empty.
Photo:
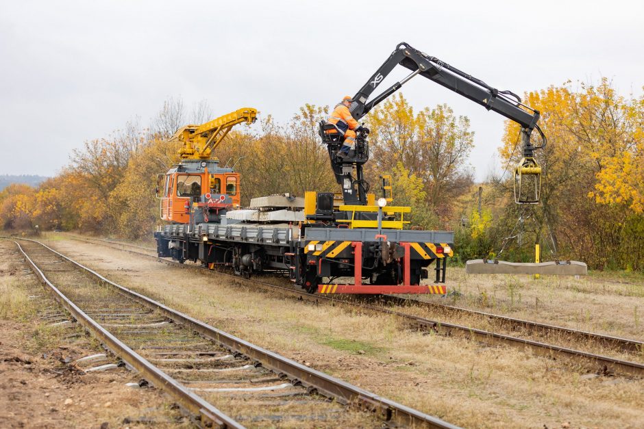
M60 309L26 268L13 243L0 241L0 426L38 428L124 427L124 417L155 419L156 428L191 425L156 389L134 390L133 372L82 374L67 359L103 352L84 330L50 326L42 311ZM32 298L29 298L32 297ZM16 356L28 364L16 363ZM71 403L69 401L71 400ZM132 427L147 424L132 424Z

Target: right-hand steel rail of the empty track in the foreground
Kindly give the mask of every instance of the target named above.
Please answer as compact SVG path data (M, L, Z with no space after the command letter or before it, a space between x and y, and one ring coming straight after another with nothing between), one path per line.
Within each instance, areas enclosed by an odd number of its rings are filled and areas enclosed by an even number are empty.
M387 421L394 419L398 423L406 424L412 427L449 429L458 428L458 426L449 424L442 419L421 413L420 411L414 410L413 408L399 404L392 400L382 398L379 395L375 395L374 393L360 389L360 387L356 387L343 380L332 377L328 374L324 374L323 372L319 372L316 369L312 369L310 367L307 367L306 365L297 363L284 356L280 356L280 354L276 354L274 352L271 352L270 350L256 346L252 343L249 343L248 341L235 337L234 335L225 333L223 330L214 328L213 326L203 323L200 320L190 317L189 315L166 307L166 305L156 300L152 300L151 298L139 294L136 291L127 289L127 287L123 287L117 283L114 283L98 272L95 272L94 270L74 261L73 259L62 255L62 253L53 250L45 244L32 239L25 240L40 244L44 248L47 248L47 250L53 252L55 255L58 255L58 257L61 257L62 259L73 263L88 274L95 276L95 278L99 279L101 283L105 285L111 285L112 287L115 287L119 292L121 292L121 294L123 294L124 296L132 298L150 309L160 311L175 323L188 326L190 329L193 329L197 333L203 335L203 337L211 339L216 343L220 343L221 345L230 348L230 350L245 354L251 359L255 359L256 361L261 363L262 366L271 369L274 372L286 374L286 376L288 376L288 378L290 378L292 382L299 382L304 387L315 389L323 395L336 398L336 400L338 400L338 402L340 403L355 404L363 411L377 413L377 415L379 415L382 419L385 419ZM126 251L130 252L131 250ZM139 252L136 253L138 255L145 255ZM132 351L132 353L134 353L134 351Z

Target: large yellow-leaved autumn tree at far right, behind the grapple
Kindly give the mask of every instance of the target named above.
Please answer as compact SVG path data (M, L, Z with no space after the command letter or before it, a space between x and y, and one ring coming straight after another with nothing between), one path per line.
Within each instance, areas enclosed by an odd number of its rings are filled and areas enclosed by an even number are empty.
M610 199L612 187L602 188L602 178L615 180L613 163L629 159L624 154L636 148L637 103L617 94L607 79L579 87L573 90L567 82L526 96L525 103L541 111L548 136L547 147L536 152L543 167L541 204L530 208L536 233L545 236L554 257L577 257L599 267L638 266L643 249L631 245L626 231L637 229L642 219L632 216L624 200ZM508 166L521 156L518 133L517 125L506 124L501 156ZM595 198L606 198L607 204L599 206ZM508 205L508 212L520 211L525 208ZM618 251L625 248L630 250Z

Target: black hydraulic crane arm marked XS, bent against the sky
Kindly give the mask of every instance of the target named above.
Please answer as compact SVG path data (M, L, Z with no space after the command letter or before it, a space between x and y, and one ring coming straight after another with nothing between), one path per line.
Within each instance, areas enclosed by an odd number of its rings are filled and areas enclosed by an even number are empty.
M387 88L382 94L369 100L371 94L375 91L380 83L384 80L391 70L400 64L412 70L412 73L399 82L394 83ZM388 96L399 90L401 86L407 83L415 75L421 75L438 83L445 88L456 92L467 99L474 101L488 110L493 110L506 118L513 120L522 128L523 134L523 154L532 157L532 150L543 148L546 144L546 138L537 122L539 119L538 110L532 109L523 103L521 98L510 91L499 91L496 88L488 86L484 81L468 75L458 68L438 60L410 47L409 44L401 42L391 53L388 59L378 68L369 78L369 81L360 88L360 91L354 96L354 102L349 110L351 115L360 120L375 105L386 99ZM536 129L541 135L541 146L532 146L530 143L530 134Z

